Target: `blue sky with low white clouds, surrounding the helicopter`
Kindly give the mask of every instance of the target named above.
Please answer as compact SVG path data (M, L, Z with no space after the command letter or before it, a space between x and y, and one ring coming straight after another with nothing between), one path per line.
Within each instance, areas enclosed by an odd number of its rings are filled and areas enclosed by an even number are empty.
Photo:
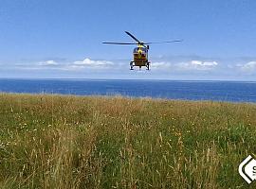
M256 1L1 0L0 77L256 80ZM129 70L155 44L152 69Z

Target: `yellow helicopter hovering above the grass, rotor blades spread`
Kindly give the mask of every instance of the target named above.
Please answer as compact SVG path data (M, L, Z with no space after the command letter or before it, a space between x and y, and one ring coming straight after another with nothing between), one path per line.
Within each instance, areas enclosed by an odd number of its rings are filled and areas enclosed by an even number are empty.
M150 61L148 59L148 52L149 52L149 44L152 43L178 43L182 42L181 40L174 40L169 42L150 42L150 43L144 43L132 35L130 32L125 31L127 35L129 35L133 40L136 41L136 43L116 43L116 42L103 42L104 44L120 44L120 45L137 45L136 48L134 48L133 55L134 60L130 62L130 70L134 70L134 66L138 66L139 69L141 69L142 66L146 66L146 69L150 69Z

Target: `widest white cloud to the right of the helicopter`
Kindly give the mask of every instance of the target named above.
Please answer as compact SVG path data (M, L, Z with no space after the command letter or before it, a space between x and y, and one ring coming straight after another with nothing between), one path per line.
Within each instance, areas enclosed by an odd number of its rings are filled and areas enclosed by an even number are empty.
M192 60L189 62L176 63L175 66L182 70L211 70L214 69L218 63L216 61L202 61Z

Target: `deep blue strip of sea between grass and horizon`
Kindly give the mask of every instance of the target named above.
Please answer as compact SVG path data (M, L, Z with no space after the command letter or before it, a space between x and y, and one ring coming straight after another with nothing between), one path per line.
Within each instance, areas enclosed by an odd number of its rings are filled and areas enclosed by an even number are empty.
M0 93L123 95L129 97L255 103L256 82L0 78Z

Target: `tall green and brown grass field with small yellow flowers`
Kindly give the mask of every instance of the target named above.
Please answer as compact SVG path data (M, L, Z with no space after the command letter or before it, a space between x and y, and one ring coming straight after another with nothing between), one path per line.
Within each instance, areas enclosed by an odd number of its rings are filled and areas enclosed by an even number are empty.
M2 188L255 188L256 105L0 94Z

